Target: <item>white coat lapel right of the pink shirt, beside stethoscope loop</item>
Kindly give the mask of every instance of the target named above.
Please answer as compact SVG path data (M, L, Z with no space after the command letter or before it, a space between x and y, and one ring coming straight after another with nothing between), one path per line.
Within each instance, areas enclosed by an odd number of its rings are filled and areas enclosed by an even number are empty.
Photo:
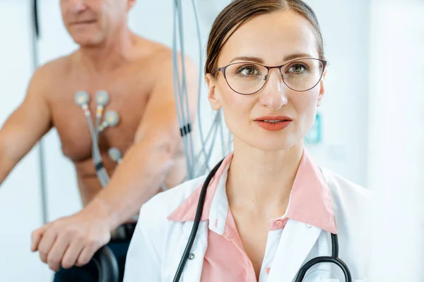
M298 274L322 229L289 219L281 234L269 282L291 282Z

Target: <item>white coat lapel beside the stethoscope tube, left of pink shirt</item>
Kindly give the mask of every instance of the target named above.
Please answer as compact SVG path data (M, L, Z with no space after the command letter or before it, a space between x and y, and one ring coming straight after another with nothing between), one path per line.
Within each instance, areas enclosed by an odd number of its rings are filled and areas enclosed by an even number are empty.
M184 226L184 249L187 245L188 238L192 232L193 221L185 223ZM187 260L184 266L180 282L199 282L201 278L201 269L203 268L204 256L208 247L208 221L201 221L197 230L196 239L194 240L190 254L194 256ZM184 251L183 251L184 252Z

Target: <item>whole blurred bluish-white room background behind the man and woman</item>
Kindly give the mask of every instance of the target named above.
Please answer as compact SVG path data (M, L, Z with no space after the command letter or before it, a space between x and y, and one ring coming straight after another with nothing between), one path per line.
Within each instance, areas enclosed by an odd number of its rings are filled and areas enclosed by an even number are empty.
M199 65L194 10L191 1L182 2L185 48ZM203 57L211 24L229 2L196 0ZM322 25L331 63L307 147L321 166L377 196L370 214L370 281L424 281L424 1L306 2ZM32 8L30 0L0 0L0 126L23 101L34 62L77 48L59 1L39 1L36 41ZM171 47L172 1L137 1L129 25ZM201 126L208 130L213 113L202 85ZM0 187L0 281L51 281L52 271L30 252L30 233L42 225L42 175L49 221L81 209L74 168L61 153L57 132L50 131L42 145L44 164L34 147ZM214 149L211 164L222 156L222 149Z

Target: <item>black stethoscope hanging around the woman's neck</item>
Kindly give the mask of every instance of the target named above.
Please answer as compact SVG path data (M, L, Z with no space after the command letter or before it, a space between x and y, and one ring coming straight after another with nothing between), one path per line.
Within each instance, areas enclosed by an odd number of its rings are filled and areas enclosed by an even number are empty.
M197 229L199 228L201 213L203 212L203 207L204 207L204 202L206 197L206 190L208 189L209 183L211 182L213 176L215 176L216 171L218 171L218 168L220 167L222 163L223 163L223 160L221 160L212 169L212 171L206 177L206 180L201 188L199 203L197 204L196 216L194 217L192 232L190 233L189 242L187 243L185 247L184 253L181 257L181 261L179 262L177 272L175 273L173 282L179 282L179 278L182 275L182 271L187 262L187 259L189 259L190 250L192 250L194 239L196 238ZM345 281L352 282L351 271L349 270L348 266L340 258L338 258L338 237L337 237L337 234L333 234L333 233L331 233L331 257L327 257L327 256L315 257L311 259L310 261L306 262L300 268L295 282L301 282L303 278L305 277L306 272L312 266L314 266L315 264L323 263L323 262L336 264L343 271L343 274L345 276Z

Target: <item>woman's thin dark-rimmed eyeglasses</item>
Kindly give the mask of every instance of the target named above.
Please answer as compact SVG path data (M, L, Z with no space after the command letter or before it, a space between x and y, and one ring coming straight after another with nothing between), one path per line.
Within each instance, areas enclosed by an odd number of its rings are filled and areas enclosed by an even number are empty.
M296 59L281 66L242 62L218 68L218 72L223 73L233 91L250 95L259 92L265 86L272 68L278 68L287 87L297 92L304 92L317 86L328 65L327 61L314 58Z

